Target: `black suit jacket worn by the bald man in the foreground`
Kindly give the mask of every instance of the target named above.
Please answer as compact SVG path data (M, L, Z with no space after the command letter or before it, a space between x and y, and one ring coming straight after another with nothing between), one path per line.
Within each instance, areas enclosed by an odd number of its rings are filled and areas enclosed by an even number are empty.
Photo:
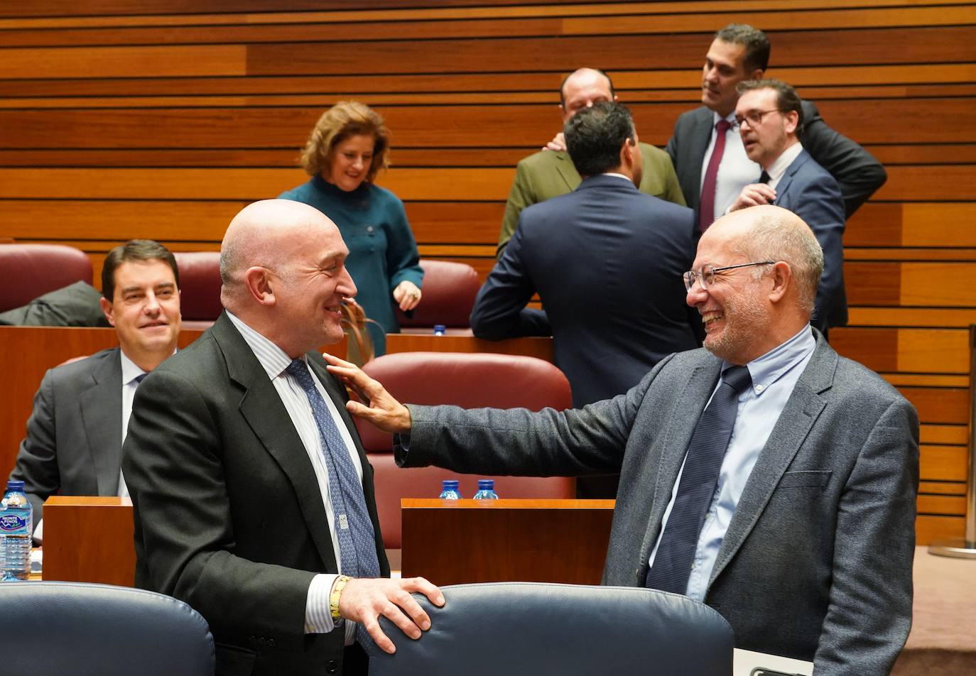
M308 353L363 466L384 576L372 467L346 390ZM218 673L342 672L343 634L305 634L308 585L336 573L322 495L277 391L226 314L137 391L123 449L136 518L136 585L210 623Z

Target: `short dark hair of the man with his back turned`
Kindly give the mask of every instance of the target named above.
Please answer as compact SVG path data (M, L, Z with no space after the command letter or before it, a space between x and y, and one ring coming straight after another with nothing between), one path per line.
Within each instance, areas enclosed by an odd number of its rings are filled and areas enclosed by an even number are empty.
M616 169L624 143L636 143L630 110L614 101L584 108L566 121L562 133L576 171L585 177Z

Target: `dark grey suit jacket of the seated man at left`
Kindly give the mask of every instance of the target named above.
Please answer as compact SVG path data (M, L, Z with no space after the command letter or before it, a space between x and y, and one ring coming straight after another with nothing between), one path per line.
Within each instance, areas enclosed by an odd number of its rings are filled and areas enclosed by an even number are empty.
M12 479L34 506L65 496L115 496L122 459L122 362L119 348L48 371L34 395L27 436Z

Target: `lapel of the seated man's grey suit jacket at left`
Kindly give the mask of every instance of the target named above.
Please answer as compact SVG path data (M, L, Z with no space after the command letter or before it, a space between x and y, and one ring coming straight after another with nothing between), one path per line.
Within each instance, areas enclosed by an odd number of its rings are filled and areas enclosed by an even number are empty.
M79 400L99 495L114 496L122 463L122 361L118 349L92 372L92 386Z

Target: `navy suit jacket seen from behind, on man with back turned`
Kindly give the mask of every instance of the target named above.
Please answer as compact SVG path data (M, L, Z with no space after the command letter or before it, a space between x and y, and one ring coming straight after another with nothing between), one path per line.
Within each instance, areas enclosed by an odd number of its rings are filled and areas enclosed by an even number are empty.
M474 302L474 335L551 333L574 406L626 392L661 358L698 344L681 281L693 229L690 209L590 177L522 212ZM525 307L536 292L545 313Z

